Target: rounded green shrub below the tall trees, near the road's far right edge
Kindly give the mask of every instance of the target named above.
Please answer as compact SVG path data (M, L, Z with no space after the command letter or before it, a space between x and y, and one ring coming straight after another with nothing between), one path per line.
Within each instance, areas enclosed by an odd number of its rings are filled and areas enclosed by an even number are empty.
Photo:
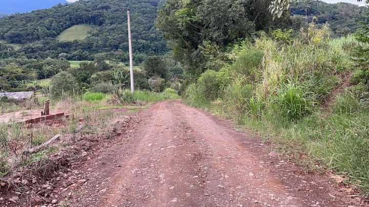
M221 83L218 77L217 72L207 70L198 79L198 84L201 85L203 96L209 101L213 101L219 96Z

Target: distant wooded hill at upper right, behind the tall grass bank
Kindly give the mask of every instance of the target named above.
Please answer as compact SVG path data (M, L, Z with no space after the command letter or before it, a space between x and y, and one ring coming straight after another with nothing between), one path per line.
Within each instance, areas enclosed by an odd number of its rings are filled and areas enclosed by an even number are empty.
M322 1L312 1L305 6L304 2L291 8L291 14L305 17L307 8L309 22L317 25L328 23L331 30L337 36L353 33L360 28L360 21L366 19L366 7L348 3L328 4Z

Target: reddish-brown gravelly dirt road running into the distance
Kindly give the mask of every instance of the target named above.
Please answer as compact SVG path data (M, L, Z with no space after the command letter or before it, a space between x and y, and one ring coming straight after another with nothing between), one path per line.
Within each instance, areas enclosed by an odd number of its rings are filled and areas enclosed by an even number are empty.
M130 139L83 167L70 206L348 206L325 175L304 174L267 146L180 101L142 112Z

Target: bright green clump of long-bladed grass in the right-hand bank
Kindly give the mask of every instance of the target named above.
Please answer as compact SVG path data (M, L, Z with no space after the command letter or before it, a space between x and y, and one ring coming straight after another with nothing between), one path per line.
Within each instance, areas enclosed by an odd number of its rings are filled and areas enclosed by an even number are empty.
M315 102L311 95L301 85L293 82L285 84L277 96L277 110L283 117L298 120L313 111Z

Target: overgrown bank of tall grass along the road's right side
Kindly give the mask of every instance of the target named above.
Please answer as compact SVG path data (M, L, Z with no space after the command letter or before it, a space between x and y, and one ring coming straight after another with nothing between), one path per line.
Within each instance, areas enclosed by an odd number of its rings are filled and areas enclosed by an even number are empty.
M263 34L233 51L233 64L191 84L185 102L259 130L263 141L294 153L296 162L333 169L368 195L369 112L354 91L365 87L336 91L342 74L355 70L353 42L352 36L331 39L326 26L311 25L284 43ZM261 61L251 61L257 51ZM215 88L216 97L209 99L206 88ZM327 100L334 101L328 109Z

